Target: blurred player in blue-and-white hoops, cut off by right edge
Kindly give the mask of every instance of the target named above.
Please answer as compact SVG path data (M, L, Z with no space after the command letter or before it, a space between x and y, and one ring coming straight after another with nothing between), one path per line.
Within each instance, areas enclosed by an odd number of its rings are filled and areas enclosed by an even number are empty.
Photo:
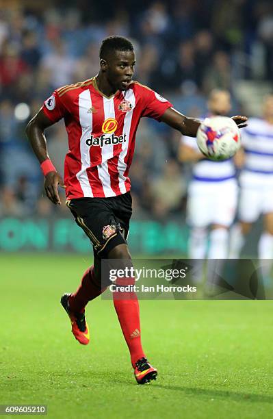
M231 233L230 257L237 259L252 223L263 215L263 232L258 243L263 277L269 279L273 258L273 94L263 101L263 118L250 118L243 129L244 166L239 177L239 223Z

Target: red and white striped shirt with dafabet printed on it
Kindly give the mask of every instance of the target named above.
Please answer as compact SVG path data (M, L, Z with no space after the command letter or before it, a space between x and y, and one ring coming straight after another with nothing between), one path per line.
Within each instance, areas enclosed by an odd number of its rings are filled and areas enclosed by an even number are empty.
M92 79L55 90L42 110L54 123L64 118L69 151L64 162L68 199L109 197L131 188L129 167L142 116L159 120L172 104L132 81L105 96Z

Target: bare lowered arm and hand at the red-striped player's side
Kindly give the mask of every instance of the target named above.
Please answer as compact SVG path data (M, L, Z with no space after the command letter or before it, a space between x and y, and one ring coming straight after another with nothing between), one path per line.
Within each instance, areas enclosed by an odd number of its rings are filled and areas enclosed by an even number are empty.
M40 164L49 160L47 151L47 140L44 136L44 129L53 125L53 122L40 110L27 124L27 138L36 154ZM44 189L51 202L60 205L61 200L57 190L58 185L64 188L64 181L60 173L53 168L44 176Z

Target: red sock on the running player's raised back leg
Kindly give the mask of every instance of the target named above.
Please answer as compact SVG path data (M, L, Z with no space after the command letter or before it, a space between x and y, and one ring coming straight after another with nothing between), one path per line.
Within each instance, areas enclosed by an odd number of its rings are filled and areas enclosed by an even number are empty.
M94 266L84 272L81 285L76 292L70 295L69 307L75 313L83 313L88 301L94 300L101 295L106 288L101 289L101 285L96 285L94 281Z

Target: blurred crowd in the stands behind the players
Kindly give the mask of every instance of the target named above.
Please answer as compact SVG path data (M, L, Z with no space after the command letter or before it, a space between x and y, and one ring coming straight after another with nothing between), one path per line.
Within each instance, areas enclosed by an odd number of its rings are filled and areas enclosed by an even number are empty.
M189 116L205 112L211 88L232 94L236 78L273 81L272 1L6 3L0 10L0 216L66 214L43 196L25 125L55 88L96 75L101 40L110 35L133 41L134 78ZM235 100L233 111L240 111ZM47 140L62 173L62 121ZM177 161L178 142L179 133L142 120L131 167L136 216L165 219L185 208L187 167Z

